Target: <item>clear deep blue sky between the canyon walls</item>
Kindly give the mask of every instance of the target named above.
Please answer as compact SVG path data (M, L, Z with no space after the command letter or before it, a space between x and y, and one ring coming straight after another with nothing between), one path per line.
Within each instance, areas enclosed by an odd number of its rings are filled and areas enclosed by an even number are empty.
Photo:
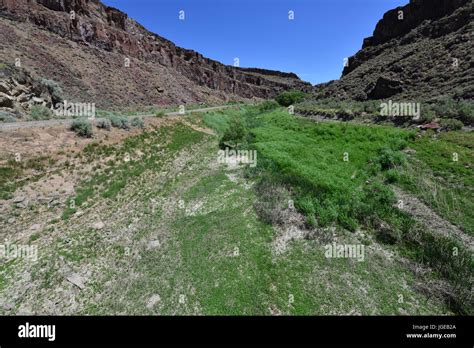
M383 14L408 0L103 0L176 45L232 65L338 79ZM179 20L179 11L185 20ZM294 11L294 20L288 11Z

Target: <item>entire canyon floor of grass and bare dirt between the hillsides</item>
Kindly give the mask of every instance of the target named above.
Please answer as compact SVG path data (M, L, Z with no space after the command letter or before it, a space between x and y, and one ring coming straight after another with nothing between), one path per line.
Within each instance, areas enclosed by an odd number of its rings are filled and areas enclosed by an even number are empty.
M235 119L251 134L256 168L218 161L219 140ZM456 209L466 196L452 193L441 202L413 181L436 183L438 198L454 184L468 195L471 171L449 169L453 177L440 181L429 169L442 164L431 163L426 149L439 145L450 154L456 147L454 165L468 166L472 135L453 133L432 145L436 139L388 128L317 123L247 106L149 117L144 129L95 129L91 139L65 125L2 131L0 237L34 245L37 258L0 264L0 314L472 314L469 302L459 305L470 283L447 274L472 275L466 256L472 211ZM397 153L423 165L372 173L382 137L388 144L406 138L408 146L394 146ZM323 223L329 201L309 204L294 180L276 180L268 168L326 192L337 187L338 217ZM381 208L373 203L380 213L353 226L344 199L377 180L395 200ZM288 204L293 200L296 207ZM364 257L328 258L331 243L364 245ZM433 255L444 255L443 264Z

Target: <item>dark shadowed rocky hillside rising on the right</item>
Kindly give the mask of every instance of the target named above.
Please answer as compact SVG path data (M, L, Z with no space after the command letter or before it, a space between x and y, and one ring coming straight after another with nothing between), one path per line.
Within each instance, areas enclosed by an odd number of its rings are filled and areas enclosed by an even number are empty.
M390 10L338 81L316 87L343 99L474 98L472 0L411 0Z

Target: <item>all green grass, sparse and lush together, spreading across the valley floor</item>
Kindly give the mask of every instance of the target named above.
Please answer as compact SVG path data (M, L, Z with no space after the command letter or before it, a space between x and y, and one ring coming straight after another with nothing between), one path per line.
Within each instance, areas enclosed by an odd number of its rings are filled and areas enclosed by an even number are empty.
M77 208L64 211L67 221L57 221L60 237L45 245L31 272L33 281L42 281L44 294L64 286L57 259L62 256L68 265L93 271L80 294L80 314L470 313L468 301L460 304L472 269L470 255L400 212L388 186L389 173L398 180L397 173L412 161L402 152L407 146L420 145L415 155L429 165L429 156L423 159L427 146L421 145L426 139L391 127L317 124L284 109L249 107L200 117L217 136L178 124L147 130L119 145L92 143L84 149L81 160L100 165L75 188L71 198ZM255 169L215 164L220 137L234 119L246 127L241 146L258 151ZM449 150L470 144L464 136L452 137ZM127 154L130 160L124 161ZM444 168L433 162L433 168ZM170 172L171 164L182 164L179 175ZM469 172L456 173L464 177L453 183L470 185ZM259 191L266 187L262 183L284 187L320 237L332 240L332 234L321 235L329 233L321 227L333 226L339 243L364 244L365 261L326 258L325 242L318 238L292 241L276 255L278 226L262 220L254 208L265 196ZM155 210L152 199L158 202ZM84 225L68 220L79 209ZM106 227L91 230L89 223L99 217ZM380 220L390 231L376 228ZM364 236L351 232L359 228ZM32 240L41 242L44 234ZM148 249L156 239L160 247ZM460 257L453 260L455 246ZM430 279L458 286L455 303L415 290L426 279L399 262L402 256L432 267ZM157 294L160 302L147 308Z

